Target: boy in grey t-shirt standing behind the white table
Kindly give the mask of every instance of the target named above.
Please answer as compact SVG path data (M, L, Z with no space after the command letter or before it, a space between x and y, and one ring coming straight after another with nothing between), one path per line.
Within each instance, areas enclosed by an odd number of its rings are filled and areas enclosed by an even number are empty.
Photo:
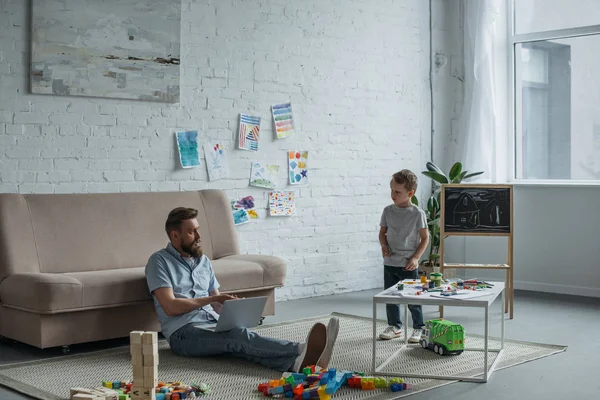
M403 279L418 278L419 259L429 242L427 216L411 201L417 184L417 176L407 169L396 172L390 182L394 204L383 209L379 230L386 289ZM408 309L413 320L413 332L408 341L419 343L424 326L423 311L421 306L416 305L409 305ZM389 340L402 334L402 321L399 305L387 304L386 311L389 326L379 337Z

